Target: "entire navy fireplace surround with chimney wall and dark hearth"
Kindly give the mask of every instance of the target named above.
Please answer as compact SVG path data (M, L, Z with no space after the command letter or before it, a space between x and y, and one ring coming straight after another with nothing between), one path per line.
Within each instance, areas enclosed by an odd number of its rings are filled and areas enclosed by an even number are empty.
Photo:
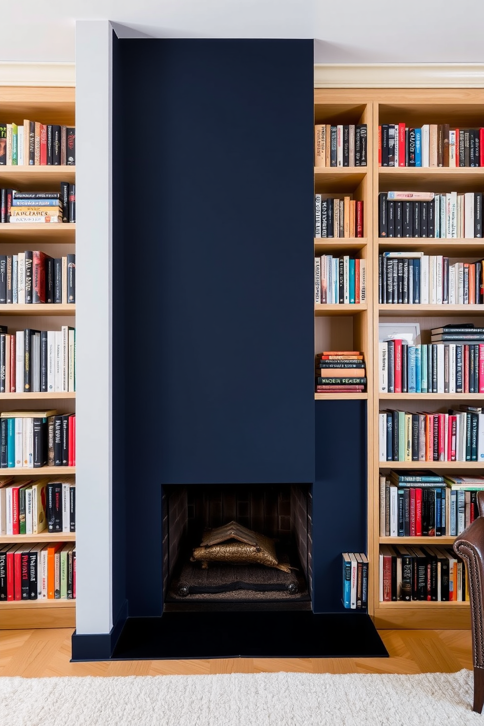
M112 118L115 627L73 658L248 656L271 615L305 647L253 654L385 655L341 603L366 402L313 393L313 41L114 37ZM163 487L204 484L311 488L312 611L163 614Z

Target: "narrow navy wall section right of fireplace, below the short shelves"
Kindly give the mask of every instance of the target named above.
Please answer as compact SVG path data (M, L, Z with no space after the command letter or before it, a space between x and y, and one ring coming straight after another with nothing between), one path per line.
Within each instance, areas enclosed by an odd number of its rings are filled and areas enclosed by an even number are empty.
M313 611L344 610L342 552L366 552L366 401L316 401Z

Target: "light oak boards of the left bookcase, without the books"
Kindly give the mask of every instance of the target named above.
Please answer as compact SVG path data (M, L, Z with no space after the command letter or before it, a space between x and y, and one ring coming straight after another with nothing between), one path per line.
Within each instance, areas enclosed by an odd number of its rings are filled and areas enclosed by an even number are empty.
M5 121L23 123L24 118L42 123L75 126L75 89L0 87L1 115ZM0 187L26 191L58 191L61 181L75 182L74 166L2 166ZM52 246L54 245L54 246ZM75 252L75 224L14 225L0 224L3 253L40 249L52 256ZM17 330L25 326L75 325L75 305L0 305L0 322ZM59 319L62 317L62 319ZM12 318L12 319L11 319ZM75 411L75 393L0 393L0 411L42 408ZM40 469L4 469L4 476L54 478L75 474L75 467L44 466ZM1 535L0 544L36 542L75 542L75 533ZM0 629L75 627L75 600L13 600L0 603Z

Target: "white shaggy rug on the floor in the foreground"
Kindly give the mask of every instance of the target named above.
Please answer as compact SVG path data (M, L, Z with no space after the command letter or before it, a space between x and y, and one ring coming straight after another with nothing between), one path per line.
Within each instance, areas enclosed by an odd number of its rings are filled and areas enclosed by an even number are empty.
M0 677L1 726L467 726L472 672Z

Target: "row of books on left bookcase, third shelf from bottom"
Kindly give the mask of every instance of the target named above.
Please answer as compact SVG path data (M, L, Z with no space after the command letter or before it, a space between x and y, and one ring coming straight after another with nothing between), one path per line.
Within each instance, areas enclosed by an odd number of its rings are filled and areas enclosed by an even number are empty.
M75 466L75 414L3 411L0 414L0 468Z

